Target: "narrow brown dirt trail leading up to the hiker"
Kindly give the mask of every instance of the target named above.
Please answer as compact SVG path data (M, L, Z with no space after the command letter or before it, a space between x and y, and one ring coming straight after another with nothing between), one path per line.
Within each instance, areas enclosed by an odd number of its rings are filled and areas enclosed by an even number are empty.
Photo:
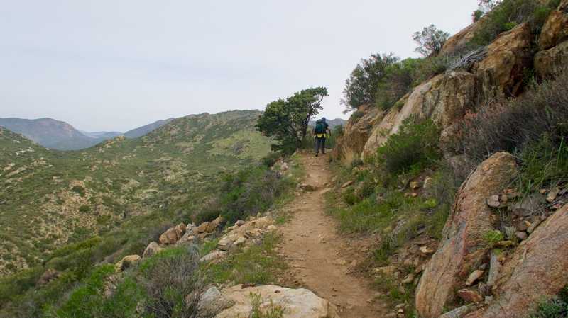
M342 318L383 317L386 309L368 288L368 281L351 275L351 256L361 251L354 251L349 239L337 232L336 221L324 212L322 190L331 179L327 156L302 156L307 171L304 182L316 190L290 204L294 213L282 228L281 251L290 261L296 282L337 305Z

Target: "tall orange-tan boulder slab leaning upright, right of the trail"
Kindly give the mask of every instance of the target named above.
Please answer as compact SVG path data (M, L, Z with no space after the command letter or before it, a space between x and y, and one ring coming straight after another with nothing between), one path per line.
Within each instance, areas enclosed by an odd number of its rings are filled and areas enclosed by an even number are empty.
M515 158L498 152L476 167L462 183L436 253L425 268L416 291L416 309L422 317L442 314L454 290L481 263L488 251L483 235L493 229L486 198L501 193L517 174Z

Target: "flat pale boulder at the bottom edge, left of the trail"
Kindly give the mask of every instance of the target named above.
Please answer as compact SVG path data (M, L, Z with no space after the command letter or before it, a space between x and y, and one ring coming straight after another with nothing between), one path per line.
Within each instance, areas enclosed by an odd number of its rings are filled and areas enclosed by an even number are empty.
M244 288L243 285L236 285L222 290L222 294L234 305L217 314L216 318L249 317L251 295L261 295L261 310L266 310L271 304L282 307L283 318L339 318L332 304L304 288L291 289L276 285Z

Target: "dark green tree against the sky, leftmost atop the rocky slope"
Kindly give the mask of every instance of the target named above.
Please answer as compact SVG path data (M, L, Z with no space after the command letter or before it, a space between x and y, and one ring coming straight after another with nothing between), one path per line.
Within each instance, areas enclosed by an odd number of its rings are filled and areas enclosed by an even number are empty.
M374 103L378 84L385 76L385 69L398 60L393 53L373 54L368 59L361 59L349 79L345 81L342 99L342 103L346 106L345 111L356 110L361 105Z

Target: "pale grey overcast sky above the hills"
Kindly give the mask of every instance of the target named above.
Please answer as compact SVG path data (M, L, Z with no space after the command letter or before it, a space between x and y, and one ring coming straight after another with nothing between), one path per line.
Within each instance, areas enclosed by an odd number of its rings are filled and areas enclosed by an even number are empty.
M344 81L373 52L416 57L412 34L457 33L477 0L0 0L0 117L126 131Z

